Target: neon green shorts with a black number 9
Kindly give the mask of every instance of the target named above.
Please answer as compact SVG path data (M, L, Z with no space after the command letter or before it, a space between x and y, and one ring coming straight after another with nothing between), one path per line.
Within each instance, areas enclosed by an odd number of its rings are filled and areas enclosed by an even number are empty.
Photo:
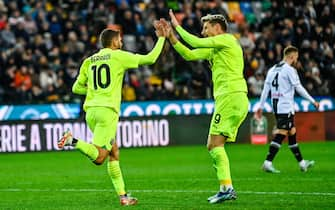
M209 128L210 135L227 137L227 142L235 142L238 128L248 114L249 100L244 92L218 96Z

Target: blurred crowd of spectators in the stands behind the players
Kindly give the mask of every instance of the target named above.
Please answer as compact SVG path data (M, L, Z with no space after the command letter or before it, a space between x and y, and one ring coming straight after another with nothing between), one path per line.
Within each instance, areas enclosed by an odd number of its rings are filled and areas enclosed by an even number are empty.
M287 45L300 49L299 76L314 96L335 95L335 1L0 0L0 104L79 102L71 93L83 59L106 27L120 29L123 48L146 54L152 23L168 17L200 35L200 18L221 13L244 49L249 96L258 97L268 69ZM186 62L166 42L157 63L130 70L124 101L208 99L205 61Z

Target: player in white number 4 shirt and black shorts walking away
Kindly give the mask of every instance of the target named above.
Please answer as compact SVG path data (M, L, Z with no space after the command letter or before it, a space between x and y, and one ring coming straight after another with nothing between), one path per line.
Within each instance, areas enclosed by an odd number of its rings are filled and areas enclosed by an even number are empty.
M260 108L257 110L257 115L261 116L265 100L270 92L273 112L277 121L277 130L270 143L269 153L262 168L264 171L270 173L280 172L274 168L272 161L279 151L283 140L288 136L288 147L299 162L301 171L305 172L309 167L314 165L314 161L302 158L297 143L296 128L294 126L294 92L297 91L302 97L313 103L317 109L319 108L319 103L308 94L300 83L295 69L299 56L298 49L288 46L284 49L283 53L283 60L274 65L266 75L260 99Z

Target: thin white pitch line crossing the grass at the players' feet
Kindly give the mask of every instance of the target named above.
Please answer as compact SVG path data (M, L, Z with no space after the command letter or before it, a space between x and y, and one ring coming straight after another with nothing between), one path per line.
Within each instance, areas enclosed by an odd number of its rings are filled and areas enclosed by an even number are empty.
M114 192L110 189L34 189L34 188L0 188L0 192ZM212 190L129 190L138 193L215 193ZM260 194L260 195L311 195L311 196L335 196L335 192L259 192L259 191L237 191L238 194Z

